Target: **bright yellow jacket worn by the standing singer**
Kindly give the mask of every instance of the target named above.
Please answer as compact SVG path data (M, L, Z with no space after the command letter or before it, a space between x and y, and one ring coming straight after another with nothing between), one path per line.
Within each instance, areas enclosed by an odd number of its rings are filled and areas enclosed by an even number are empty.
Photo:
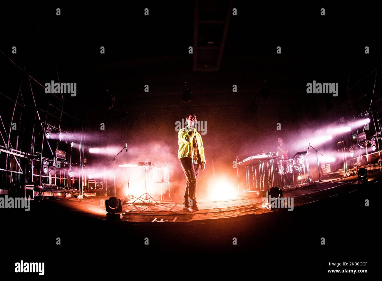
M189 135L188 132L193 132L192 135ZM200 155L200 158L198 156L198 162L204 162L206 163L206 158L204 157L204 147L203 147L203 141L202 136L196 132L194 128L183 128L178 133L178 144L179 144L179 150L178 150L178 158L179 160L183 157L188 157L193 159L193 141L194 138L196 138L197 143L197 149ZM199 163L201 164L201 163Z

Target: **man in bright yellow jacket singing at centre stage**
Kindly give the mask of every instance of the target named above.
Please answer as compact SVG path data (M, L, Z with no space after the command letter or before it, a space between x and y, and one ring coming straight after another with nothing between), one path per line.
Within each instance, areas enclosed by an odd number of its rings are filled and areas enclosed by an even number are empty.
M182 210L194 212L199 211L195 198L196 181L199 169L203 171L206 168L206 158L204 157L202 136L195 129L196 115L191 113L186 118L187 127L178 133L178 158L187 179Z

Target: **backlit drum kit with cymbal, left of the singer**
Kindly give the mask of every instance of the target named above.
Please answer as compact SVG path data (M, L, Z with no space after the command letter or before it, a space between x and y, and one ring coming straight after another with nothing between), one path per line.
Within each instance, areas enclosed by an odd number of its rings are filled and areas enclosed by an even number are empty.
M147 193L147 173L152 170L153 172L153 178L154 178L154 184L160 184L160 203L163 203L164 198L164 190L163 185L168 187L168 197L170 197L171 201L172 198L170 196L170 176L169 176L169 167L166 162L166 164L163 167L154 167L151 162L138 162L137 164L122 164L118 165L118 167L126 168L127 171L127 187L128 187L128 194L123 199L122 203L132 203L132 204L142 204L142 205L151 205L151 204L158 204L157 200L154 199L149 193ZM145 185L145 193L143 193L139 197L134 197L134 195L130 194L130 177L129 177L129 169L131 168L138 168L141 167L141 171L144 175L144 185ZM129 201L133 202L129 202ZM126 202L125 202L126 201ZM138 201L138 202L137 202ZM155 202L155 203L154 203Z

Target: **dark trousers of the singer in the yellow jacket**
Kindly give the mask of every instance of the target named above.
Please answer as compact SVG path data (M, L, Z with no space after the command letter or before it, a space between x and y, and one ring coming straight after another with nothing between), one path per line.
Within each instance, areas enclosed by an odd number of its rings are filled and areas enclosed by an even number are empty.
M180 165L186 175L185 206L196 206L196 181L199 175L199 164L194 164L191 158L181 158Z

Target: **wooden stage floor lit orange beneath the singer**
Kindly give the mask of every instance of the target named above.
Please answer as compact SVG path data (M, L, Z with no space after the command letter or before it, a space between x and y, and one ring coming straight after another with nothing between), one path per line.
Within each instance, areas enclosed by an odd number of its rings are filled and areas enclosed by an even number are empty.
M369 181L382 175L380 171L369 174ZM293 208L335 197L341 193L350 193L360 188L357 177L348 177L330 182L316 183L306 187L291 188L283 191L284 198L293 197ZM200 211L191 213L181 210L183 202L163 202L158 205L123 204L123 222L134 224L151 223L208 223L214 219L256 216L272 212L264 208L265 194L241 195L224 201L198 201ZM50 211L66 214L85 215L97 219L106 219L104 196L76 197L63 200L44 200L43 205L50 205ZM49 202L46 202L49 201ZM276 209L275 211L280 211ZM287 210L284 208L283 210Z

